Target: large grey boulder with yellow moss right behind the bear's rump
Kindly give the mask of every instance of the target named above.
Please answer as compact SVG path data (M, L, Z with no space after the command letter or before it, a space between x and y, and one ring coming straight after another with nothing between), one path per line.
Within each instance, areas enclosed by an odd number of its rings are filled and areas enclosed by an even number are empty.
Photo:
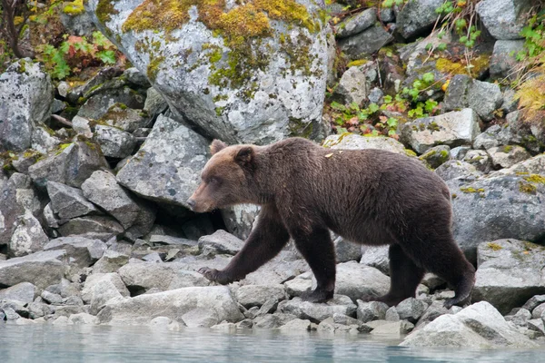
M449 182L454 240L471 260L483 241L539 240L545 234L545 182L540 175L492 174Z

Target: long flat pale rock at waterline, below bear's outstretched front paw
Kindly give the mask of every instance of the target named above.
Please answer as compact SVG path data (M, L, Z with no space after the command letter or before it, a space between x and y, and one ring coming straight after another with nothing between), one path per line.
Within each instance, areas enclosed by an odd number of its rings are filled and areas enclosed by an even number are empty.
M224 286L173 289L115 301L106 304L97 318L108 325L144 325L159 316L188 327L212 327L223 320L237 322L244 318Z

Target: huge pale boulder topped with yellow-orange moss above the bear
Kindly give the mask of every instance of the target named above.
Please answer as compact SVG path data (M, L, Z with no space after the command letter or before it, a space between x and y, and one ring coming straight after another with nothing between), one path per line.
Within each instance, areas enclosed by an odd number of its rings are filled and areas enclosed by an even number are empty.
M226 10L224 2L197 2L170 9L123 0L104 9L93 0L85 8L147 74L177 120L184 116L226 142L268 143L325 130L330 30L314 2L284 3L230 3Z

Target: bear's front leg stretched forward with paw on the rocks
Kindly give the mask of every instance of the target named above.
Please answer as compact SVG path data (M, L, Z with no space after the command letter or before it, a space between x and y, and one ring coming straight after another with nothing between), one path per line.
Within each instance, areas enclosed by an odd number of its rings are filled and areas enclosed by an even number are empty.
M220 284L243 280L271 260L282 250L290 239L290 234L282 224L274 205L264 205L259 213L257 226L250 233L242 250L223 270L203 267L199 270L203 276Z

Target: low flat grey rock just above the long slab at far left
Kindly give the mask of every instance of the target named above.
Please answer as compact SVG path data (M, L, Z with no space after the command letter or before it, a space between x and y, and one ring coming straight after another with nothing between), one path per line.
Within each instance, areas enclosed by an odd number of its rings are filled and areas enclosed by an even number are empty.
M89 267L103 257L106 244L102 240L90 240L84 237L61 237L49 241L44 250L65 250L71 263L80 267Z

